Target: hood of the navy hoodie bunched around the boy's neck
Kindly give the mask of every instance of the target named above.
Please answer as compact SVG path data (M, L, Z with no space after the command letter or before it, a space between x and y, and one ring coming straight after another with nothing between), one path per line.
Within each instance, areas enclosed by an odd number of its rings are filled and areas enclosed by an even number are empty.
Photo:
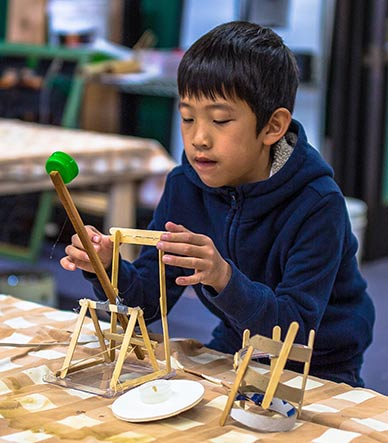
M306 133L298 121L292 120L288 132L296 138L294 149L283 167L266 180L236 187L211 188L201 181L184 152L183 172L190 182L210 194L216 193L228 200L231 193L234 193L237 199L259 198L260 207L269 212L312 182L319 187L319 179L332 178L334 175L332 168L322 159L320 153L308 143ZM260 212L259 208L258 211Z

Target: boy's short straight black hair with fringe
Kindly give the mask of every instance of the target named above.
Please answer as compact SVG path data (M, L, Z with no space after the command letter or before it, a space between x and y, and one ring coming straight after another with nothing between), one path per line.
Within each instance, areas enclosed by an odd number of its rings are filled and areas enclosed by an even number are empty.
M290 49L272 29L234 21L199 38L178 68L181 97L216 96L247 102L257 134L280 108L294 109L298 68Z

